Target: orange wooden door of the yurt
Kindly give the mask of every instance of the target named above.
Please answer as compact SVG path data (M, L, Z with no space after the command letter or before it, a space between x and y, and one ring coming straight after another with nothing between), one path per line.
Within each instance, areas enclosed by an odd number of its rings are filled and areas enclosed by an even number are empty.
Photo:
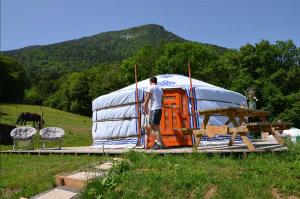
M182 128L189 128L188 97L180 88L165 89L160 130L166 146L191 146L192 137L182 133ZM154 139L149 140L150 147Z

